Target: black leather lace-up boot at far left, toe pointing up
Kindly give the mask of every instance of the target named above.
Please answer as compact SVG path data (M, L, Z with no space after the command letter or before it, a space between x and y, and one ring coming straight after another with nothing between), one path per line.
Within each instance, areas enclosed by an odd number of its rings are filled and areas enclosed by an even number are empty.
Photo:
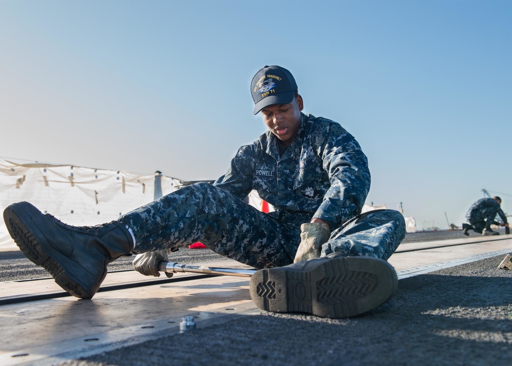
M7 207L4 220L23 254L44 267L71 295L90 299L106 276L108 263L133 250L125 225L112 221L94 227L66 225L28 202Z

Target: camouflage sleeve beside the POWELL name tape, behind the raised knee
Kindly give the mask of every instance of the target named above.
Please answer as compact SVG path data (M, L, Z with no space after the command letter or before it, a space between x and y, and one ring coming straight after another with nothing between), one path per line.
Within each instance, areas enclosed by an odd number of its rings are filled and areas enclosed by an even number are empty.
M254 144L242 146L231 159L226 174L217 179L214 186L243 200L252 190L255 151Z

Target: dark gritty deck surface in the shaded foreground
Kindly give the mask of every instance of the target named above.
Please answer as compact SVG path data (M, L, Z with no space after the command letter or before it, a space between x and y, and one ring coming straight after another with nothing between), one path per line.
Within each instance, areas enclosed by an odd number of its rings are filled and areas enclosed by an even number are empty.
M460 231L418 232L404 241L457 237L462 237ZM208 250L178 253L185 261L187 255L210 258ZM512 271L497 269L502 259L401 279L391 300L353 318L243 316L59 365L510 364ZM4 275L7 265L1 266ZM29 265L27 269L32 273Z

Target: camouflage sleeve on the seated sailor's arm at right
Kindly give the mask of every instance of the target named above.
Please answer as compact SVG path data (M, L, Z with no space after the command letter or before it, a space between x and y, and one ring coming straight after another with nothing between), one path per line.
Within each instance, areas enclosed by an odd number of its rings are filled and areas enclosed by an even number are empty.
M313 217L326 221L334 230L361 213L371 177L366 155L340 125L329 126L322 146L320 156L331 186Z

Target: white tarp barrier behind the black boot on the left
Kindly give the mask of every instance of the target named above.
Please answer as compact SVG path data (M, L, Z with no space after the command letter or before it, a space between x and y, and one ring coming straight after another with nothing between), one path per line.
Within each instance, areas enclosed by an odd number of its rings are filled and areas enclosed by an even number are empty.
M0 208L28 201L70 225L98 225L151 202L155 176L70 165L14 164L0 159ZM160 176L162 194L182 182ZM0 220L0 249L17 249Z

